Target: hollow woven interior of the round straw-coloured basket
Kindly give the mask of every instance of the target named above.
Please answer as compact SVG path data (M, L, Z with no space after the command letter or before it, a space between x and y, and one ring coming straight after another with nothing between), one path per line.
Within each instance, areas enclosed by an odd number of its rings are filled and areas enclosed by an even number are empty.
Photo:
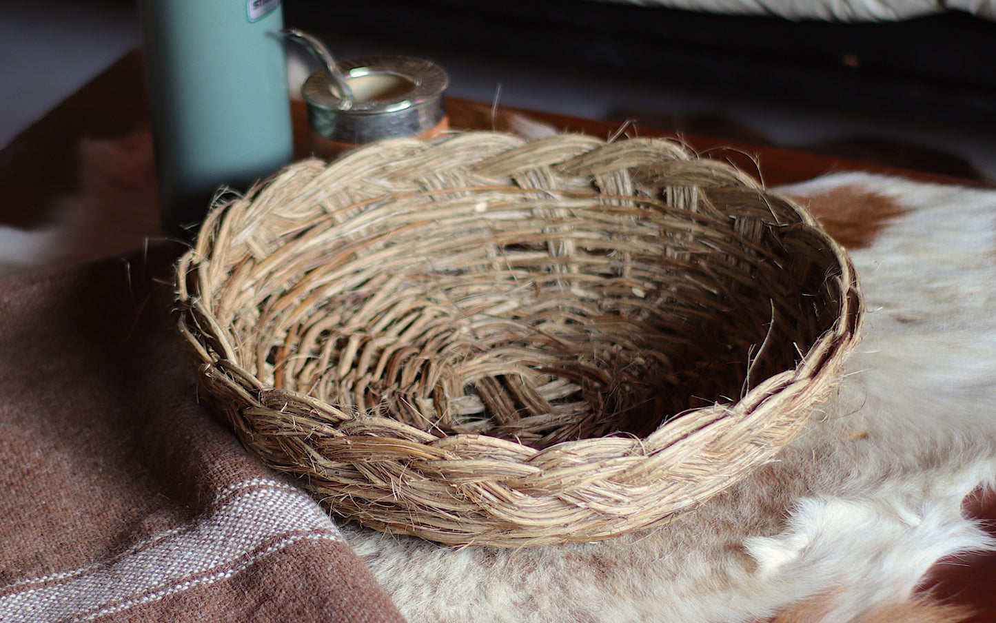
M241 365L440 437L543 448L733 403L838 320L834 252L760 191L513 181L367 180L256 228L214 304Z

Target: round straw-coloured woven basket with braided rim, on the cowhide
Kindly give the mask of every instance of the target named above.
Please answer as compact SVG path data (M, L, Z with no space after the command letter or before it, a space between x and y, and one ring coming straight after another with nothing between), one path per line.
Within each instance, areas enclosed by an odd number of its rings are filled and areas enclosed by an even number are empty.
M291 165L177 267L200 391L335 513L606 538L769 461L861 295L814 219L676 143L468 132Z

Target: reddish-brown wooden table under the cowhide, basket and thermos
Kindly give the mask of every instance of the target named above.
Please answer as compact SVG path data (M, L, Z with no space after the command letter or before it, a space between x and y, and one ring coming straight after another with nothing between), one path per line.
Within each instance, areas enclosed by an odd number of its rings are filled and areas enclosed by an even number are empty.
M0 223L32 228L52 218L55 200L72 193L79 184L76 147L81 138L117 138L147 129L148 108L143 85L141 55L129 53L0 151ZM490 104L453 99L447 104L454 127L486 128L490 123ZM519 112L566 131L609 137L620 129L619 124L606 121ZM307 128L300 104L295 106L295 131L297 144L304 144ZM666 135L650 128L623 129L623 133L633 132ZM699 153L727 159L768 185L803 181L845 170L890 173L940 183L980 184L977 180L929 171L910 171L719 138L682 135L681 139ZM155 231L147 232L148 236L156 234ZM996 496L977 496L966 501L965 508L969 515L988 521L996 535ZM994 621L996 555L977 554L940 562L934 566L923 588L933 590L950 603L976 609L978 614L972 621Z

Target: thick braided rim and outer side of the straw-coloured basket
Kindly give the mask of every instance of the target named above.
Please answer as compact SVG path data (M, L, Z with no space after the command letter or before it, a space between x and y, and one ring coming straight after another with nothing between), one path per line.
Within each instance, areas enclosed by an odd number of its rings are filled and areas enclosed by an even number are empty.
M530 150L533 166L559 170L579 157L604 156L631 162L645 173L656 158L676 163L686 176L683 183L695 192L756 193L762 201L777 203L779 215L792 215L833 257L834 275L827 282L840 313L807 352L800 352L794 369L763 379L730 404L686 410L642 438L574 439L542 449L484 434L440 437L274 386L252 371L243 359L248 348L222 319L233 311L219 310L220 304L212 307L212 301L219 292L245 288L239 262L224 262L219 249L244 248L243 263L250 256L266 258L272 250L262 248L261 241L279 248L280 241L313 226L304 208L300 213L298 208L268 213L269 197L290 192L303 205L313 195L333 192L320 189L335 187L337 179L348 177L347 171L360 170L362 178L374 162L388 162L394 170L438 173L440 167L486 161L489 170L513 175L521 164L506 156L518 149ZM454 160L454 152L477 155L468 163ZM585 171L573 174L586 178ZM346 192L346 187L336 192ZM839 382L843 362L859 340L864 312L847 252L795 201L668 139L607 143L582 134L526 140L468 131L434 141L381 141L332 163L296 162L246 196L212 207L195 246L176 265L175 286L177 326L197 365L199 392L252 454L300 478L305 489L338 515L381 531L451 545L593 541L690 511L773 460L802 429Z

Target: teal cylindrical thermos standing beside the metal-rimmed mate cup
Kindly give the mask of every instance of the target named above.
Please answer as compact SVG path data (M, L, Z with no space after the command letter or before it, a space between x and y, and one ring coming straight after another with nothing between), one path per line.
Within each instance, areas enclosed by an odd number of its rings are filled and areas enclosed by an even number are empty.
M163 234L293 157L280 0L139 0Z

